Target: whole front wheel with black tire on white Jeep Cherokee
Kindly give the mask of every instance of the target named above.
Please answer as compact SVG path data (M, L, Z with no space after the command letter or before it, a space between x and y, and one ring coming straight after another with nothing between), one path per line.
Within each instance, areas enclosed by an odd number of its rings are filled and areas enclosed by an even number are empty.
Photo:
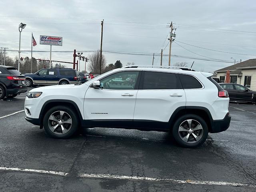
M44 130L53 138L69 138L78 130L76 116L76 112L69 107L53 107L44 115Z

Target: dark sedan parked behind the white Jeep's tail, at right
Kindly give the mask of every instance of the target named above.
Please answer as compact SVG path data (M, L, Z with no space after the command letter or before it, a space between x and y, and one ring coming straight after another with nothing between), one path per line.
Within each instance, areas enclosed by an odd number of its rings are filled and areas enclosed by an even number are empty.
M228 91L230 101L256 102L256 91L234 83L220 83Z

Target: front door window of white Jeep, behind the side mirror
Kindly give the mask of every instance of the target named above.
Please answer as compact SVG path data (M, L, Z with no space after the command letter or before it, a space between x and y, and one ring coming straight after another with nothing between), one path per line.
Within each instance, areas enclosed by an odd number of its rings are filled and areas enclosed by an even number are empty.
M139 73L139 71L122 71L111 74L100 80L100 87L111 90L134 89Z

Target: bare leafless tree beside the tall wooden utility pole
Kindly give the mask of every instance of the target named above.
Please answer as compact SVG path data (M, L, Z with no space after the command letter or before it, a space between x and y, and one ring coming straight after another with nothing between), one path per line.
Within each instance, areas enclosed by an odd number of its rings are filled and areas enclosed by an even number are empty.
M89 70L93 74L100 74L100 71L104 71L106 67L106 58L102 54L101 70L100 70L100 52L96 51L89 55Z

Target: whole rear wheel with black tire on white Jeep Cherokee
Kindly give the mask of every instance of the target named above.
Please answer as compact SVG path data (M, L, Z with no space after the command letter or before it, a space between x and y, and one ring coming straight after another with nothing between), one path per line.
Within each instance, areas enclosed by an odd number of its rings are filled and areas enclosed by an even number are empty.
M186 128L188 128L187 120L188 121L192 120L191 128L189 128L190 130L188 130L188 132L179 131L179 127L181 125L183 125L183 126L181 126L182 128L184 128L184 126ZM201 125L202 129L193 131L193 128L195 128L196 125L198 125L198 123ZM207 126L206 122L204 121L204 119L202 119L200 116L197 116L194 114L187 114L187 115L181 116L180 118L178 118L178 120L176 120L176 122L174 123L174 126L172 128L172 135L173 135L174 139L176 140L176 142L178 144L180 144L180 146L186 147L186 148L196 148L196 147L202 145L206 141L206 138L208 136L208 126ZM182 137L182 135L184 137ZM200 139L198 138L198 141L196 141L196 137L193 135L199 136ZM188 139L186 139L186 136L188 136ZM184 140L187 140L187 142L182 140L181 137L184 138Z

